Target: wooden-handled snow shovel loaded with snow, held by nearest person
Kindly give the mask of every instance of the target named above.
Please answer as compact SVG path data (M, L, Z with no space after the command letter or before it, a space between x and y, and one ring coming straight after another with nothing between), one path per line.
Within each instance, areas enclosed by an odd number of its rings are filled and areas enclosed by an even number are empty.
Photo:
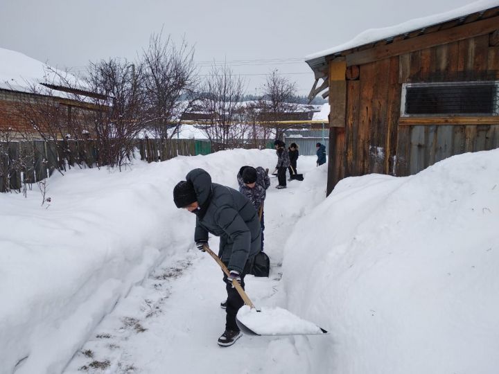
M204 245L204 250L216 260L225 275L229 276L229 269L227 269L222 260L207 245ZM315 325L315 323L300 319L286 309L256 309L239 282L234 280L232 281L232 285L236 288L236 291L246 305L240 308L236 317L236 323L244 334L271 336L329 334L329 332Z

